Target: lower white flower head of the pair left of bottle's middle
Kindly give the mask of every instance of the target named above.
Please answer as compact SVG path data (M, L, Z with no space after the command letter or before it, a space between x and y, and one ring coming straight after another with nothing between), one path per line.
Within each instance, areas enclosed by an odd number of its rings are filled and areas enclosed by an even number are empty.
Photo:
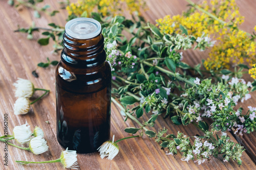
M18 98L16 102L14 103L14 114L19 115L19 114L26 114L29 112L30 108L30 102L27 98Z

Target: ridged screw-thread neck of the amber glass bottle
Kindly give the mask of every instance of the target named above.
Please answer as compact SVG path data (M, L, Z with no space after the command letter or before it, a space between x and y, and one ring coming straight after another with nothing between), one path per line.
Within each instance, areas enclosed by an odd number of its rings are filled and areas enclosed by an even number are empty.
M89 68L102 64L106 59L101 33L91 39L75 39L65 32L63 45L65 48L61 52L61 60L68 65Z

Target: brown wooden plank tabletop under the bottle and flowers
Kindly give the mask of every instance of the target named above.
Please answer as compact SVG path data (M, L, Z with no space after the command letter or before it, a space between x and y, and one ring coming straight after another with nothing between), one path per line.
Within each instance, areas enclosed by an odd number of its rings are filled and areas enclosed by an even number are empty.
M60 0L50 1L45 0L45 3L51 6L51 9L59 9ZM196 2L196 1L195 1ZM250 0L238 0L237 4L240 7L240 12L245 16L245 22L241 29L252 32L256 25L256 3ZM142 12L146 20L155 22L155 19L163 17L167 14L181 14L186 9L187 3L184 0L149 0L147 1L148 10ZM29 27L32 20L35 21L37 27L48 27L48 23L55 22L58 25L65 26L67 12L61 10L54 17L42 14L41 18L34 18L33 11L25 7L15 9L7 4L7 0L0 1L0 134L3 135L3 115L8 114L9 133L15 126L25 124L27 121L31 128L39 126L45 132L45 138L49 145L49 151L41 155L33 155L30 152L23 151L9 146L9 163L8 167L3 164L4 144L0 143L0 169L62 169L60 163L51 164L29 164L19 165L15 160L27 161L44 161L57 159L60 156L63 148L60 147L56 139L56 113L55 113L55 67L43 69L38 68L39 78L32 76L31 71L36 68L37 63L46 62L46 58L50 60L59 60L59 56L52 55L52 46L40 46L36 42L36 38L41 37L40 33L35 33L34 40L27 40L25 34L14 33L13 30L20 27ZM201 59L207 57L207 52L187 51L184 53L185 61L190 65L195 65ZM51 92L43 100L32 105L32 109L26 115L14 115L13 104L16 101L14 96L13 83L17 78L31 80L38 88L50 89ZM250 80L247 77L246 80ZM40 92L36 92L40 95ZM246 101L243 107L254 106L256 103L256 93L252 94L252 99ZM242 105L242 104L240 104ZM111 135L115 134L116 139L130 136L123 131L126 127L136 127L136 124L131 120L123 122L124 117L120 115L118 107L112 104L111 114ZM149 115L143 115L140 120L147 120ZM49 120L50 124L45 123ZM200 134L193 126L186 127L175 126L170 120L159 118L156 121L154 129L165 127L169 133L177 134L177 131L184 132L188 136ZM236 141L232 134L228 133L231 138ZM240 167L236 162L230 161L225 163L222 157L212 158L209 162L198 165L193 161L181 161L182 155L178 153L176 157L165 155L153 138L143 136L142 138L132 138L119 142L120 152L109 161L101 159L99 153L78 154L78 163L80 169L256 169L254 143L256 141L255 133L244 135L238 139L247 148L248 152L243 154L243 165Z

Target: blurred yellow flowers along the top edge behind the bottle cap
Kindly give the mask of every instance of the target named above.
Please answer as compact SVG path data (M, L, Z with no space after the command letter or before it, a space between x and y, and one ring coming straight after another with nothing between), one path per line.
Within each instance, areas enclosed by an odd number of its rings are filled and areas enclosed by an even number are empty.
M66 10L69 15L90 16L91 12L98 11L102 16L108 16L117 15L124 10L130 13L139 12L140 8L144 7L144 0L78 0L67 6Z

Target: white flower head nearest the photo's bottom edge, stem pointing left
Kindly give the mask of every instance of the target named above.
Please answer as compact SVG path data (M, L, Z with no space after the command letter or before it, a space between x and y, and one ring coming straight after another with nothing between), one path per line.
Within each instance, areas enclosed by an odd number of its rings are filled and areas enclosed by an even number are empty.
M77 163L77 154L76 151L68 150L62 151L60 155L60 162L65 168L72 168L72 169L78 169L78 163Z

